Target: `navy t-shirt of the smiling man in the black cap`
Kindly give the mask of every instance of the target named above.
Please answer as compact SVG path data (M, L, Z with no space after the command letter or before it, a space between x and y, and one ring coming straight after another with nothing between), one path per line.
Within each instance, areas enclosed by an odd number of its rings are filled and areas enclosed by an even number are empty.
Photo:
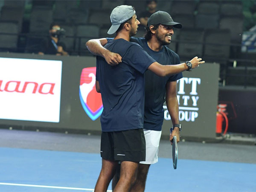
M160 51L153 51L148 47L145 38L131 38L131 42L140 44L141 47L162 65L180 64L179 55L166 46ZM163 125L163 103L166 97L166 83L181 79L182 73L172 76L160 77L150 70L147 70L145 76L145 114L144 128L161 131Z

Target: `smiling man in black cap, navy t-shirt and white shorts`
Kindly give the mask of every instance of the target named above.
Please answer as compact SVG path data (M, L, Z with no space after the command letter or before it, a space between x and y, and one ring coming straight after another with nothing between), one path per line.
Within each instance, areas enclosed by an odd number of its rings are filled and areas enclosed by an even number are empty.
M140 44L140 46L151 55L158 63L163 65L178 65L180 64L179 56L171 49L164 45L170 44L172 35L174 34L173 27L181 28L180 23L172 20L172 17L167 12L156 12L148 19L147 33L145 38L130 38L130 41ZM101 55L105 58L108 64L115 65L123 60L123 58L114 52L102 47L108 41L113 39L90 40L87 42L87 48L96 55ZM102 45L101 45L102 44ZM126 57L129 55L126 55ZM186 62L186 66L190 69L191 62L198 60L197 57ZM199 59L201 60L201 59ZM204 61L198 64L204 63ZM144 135L146 142L146 157L145 161L140 161L137 170L137 180L131 191L144 191L145 181L148 174L148 169L151 164L157 163L158 145L161 136L161 127L163 124L163 103L165 102L172 118L174 131L170 134L170 141L174 136L179 142L179 131L181 125L178 118L178 102L176 96L177 80L182 78L182 70L180 73L173 73L166 77L160 77L152 73L152 66L149 66L145 73L145 108L144 108ZM166 66L167 67L167 66ZM174 66L173 66L174 67ZM175 66L176 67L176 66ZM178 66L177 66L178 67ZM118 179L113 180L113 186Z

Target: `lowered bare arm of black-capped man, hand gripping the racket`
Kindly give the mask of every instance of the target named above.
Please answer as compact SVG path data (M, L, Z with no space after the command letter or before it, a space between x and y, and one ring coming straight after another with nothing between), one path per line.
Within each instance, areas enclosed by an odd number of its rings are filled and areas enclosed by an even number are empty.
M177 100L177 81L167 82L166 84L166 105L169 111L169 114L172 119L172 125L180 124L179 122L179 103ZM172 143L173 137L177 137L177 142L180 142L180 131L179 128L175 127L170 134L169 140Z

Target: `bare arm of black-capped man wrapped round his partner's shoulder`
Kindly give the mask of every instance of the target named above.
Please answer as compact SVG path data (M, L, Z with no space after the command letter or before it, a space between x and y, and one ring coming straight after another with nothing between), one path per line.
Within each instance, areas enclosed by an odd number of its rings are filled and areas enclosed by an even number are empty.
M108 43L106 38L91 39L87 41L86 47L93 55L99 55L105 58L106 62L110 65L116 65L122 62L122 57L118 53L114 53L104 48L103 46Z

